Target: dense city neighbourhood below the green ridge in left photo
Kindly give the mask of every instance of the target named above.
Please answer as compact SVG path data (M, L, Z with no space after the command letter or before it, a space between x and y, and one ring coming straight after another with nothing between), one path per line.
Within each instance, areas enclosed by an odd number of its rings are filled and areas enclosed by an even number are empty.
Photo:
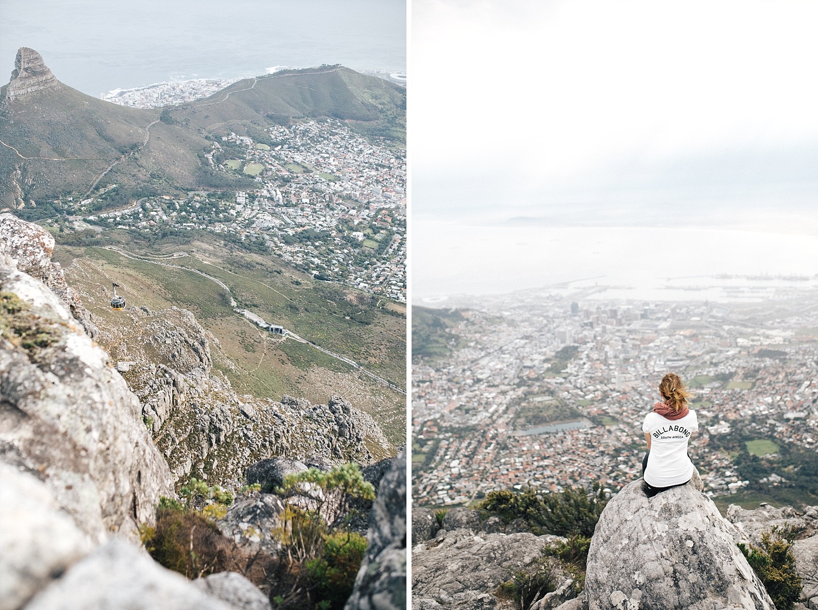
M319 280L406 302L403 151L373 145L334 119L267 128L263 139L212 137L202 155L213 170L252 178L255 188L145 197L87 219L146 232L218 233ZM74 209L94 205L88 199Z

